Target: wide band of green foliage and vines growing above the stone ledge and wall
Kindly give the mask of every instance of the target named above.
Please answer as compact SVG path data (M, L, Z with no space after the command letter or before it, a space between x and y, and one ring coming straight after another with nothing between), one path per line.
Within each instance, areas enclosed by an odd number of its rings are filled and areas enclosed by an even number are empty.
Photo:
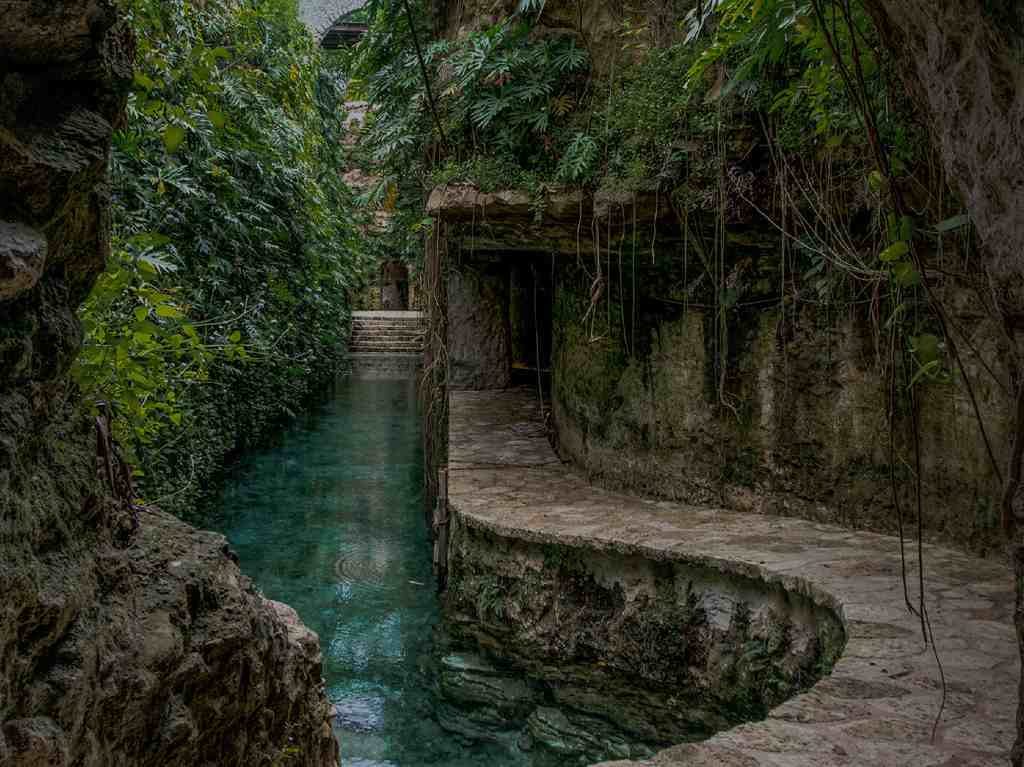
M803 278L791 300L860 304L886 285L911 375L938 373L911 246L941 249L967 219L929 175L924 131L860 4L683 5L667 22L624 12L618 65L600 72L584 39L538 34L545 3L509 4L489 27L423 45L428 88L402 4L381 0L353 61L376 113L366 161L385 169L368 202L419 226L424 195L453 181L538 196L657 188L681 215L705 216L709 252L725 245L708 218L724 228L753 211L784 232L782 268ZM901 187L912 211L894 203ZM742 287L725 276L711 299L731 311Z

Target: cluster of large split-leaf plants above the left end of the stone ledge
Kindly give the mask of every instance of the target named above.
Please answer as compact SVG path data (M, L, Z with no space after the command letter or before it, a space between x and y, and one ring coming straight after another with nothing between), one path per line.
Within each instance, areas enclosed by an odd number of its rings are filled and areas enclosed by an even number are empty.
M423 203L434 185L569 180L595 147L568 130L586 89L587 51L571 37L534 39L532 4L458 40L431 40L426 4L410 9L412 25L404 3L372 3L369 34L344 67L350 97L372 104L352 158L377 178L361 202L392 213L379 249L415 267L430 226ZM565 159L561 144L573 141Z

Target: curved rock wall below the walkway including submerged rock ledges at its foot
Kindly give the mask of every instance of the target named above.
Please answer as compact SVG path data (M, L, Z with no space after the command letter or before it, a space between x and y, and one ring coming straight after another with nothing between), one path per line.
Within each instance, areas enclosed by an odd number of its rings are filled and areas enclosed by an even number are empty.
M643 758L761 719L845 641L829 609L779 586L454 520L441 721L531 763Z

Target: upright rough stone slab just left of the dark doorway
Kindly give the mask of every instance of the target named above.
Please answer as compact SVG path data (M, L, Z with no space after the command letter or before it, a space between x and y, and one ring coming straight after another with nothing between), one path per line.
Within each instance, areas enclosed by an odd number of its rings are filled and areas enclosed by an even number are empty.
M449 385L504 389L512 378L509 273L485 262L449 272Z

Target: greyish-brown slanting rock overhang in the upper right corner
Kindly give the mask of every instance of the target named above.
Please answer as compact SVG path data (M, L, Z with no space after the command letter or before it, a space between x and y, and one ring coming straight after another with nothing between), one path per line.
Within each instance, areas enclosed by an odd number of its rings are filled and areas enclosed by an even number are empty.
M1024 313L1024 11L982 0L867 0L988 249L1007 311ZM1001 9L1000 9L1001 6Z

